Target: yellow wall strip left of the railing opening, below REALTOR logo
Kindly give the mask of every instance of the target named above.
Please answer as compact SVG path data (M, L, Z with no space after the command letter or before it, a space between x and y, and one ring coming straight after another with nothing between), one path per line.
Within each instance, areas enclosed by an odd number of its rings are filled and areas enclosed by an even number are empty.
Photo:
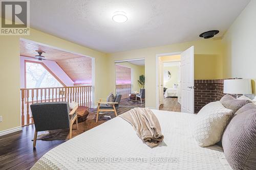
M19 41L0 36L0 131L20 126Z

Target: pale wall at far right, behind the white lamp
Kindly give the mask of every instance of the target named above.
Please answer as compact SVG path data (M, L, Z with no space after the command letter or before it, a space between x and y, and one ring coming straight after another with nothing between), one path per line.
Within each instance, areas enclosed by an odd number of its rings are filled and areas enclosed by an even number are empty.
M224 78L256 78L256 1L252 0L232 23L222 43ZM255 83L253 82L255 94Z

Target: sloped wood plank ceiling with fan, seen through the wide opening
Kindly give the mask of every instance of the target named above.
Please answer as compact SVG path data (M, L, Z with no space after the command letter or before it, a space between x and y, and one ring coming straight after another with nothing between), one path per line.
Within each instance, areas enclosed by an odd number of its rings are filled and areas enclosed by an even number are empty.
M20 56L34 57L41 50L46 60L55 61L75 84L92 83L92 59L30 41L20 40Z

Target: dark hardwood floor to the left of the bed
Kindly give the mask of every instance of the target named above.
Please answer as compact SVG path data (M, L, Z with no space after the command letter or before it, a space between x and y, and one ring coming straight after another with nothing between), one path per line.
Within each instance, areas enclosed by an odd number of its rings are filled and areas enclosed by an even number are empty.
M122 114L132 107L119 107L117 114ZM115 117L113 112L105 112L99 115L99 120L95 123L96 109L90 109L86 122L78 124L78 130L72 131L72 137L88 131L110 118L104 115ZM75 128L76 125L74 125ZM44 132L38 132L38 135ZM22 131L11 133L0 137L0 169L30 169L34 163L45 153L65 140L44 141L37 140L36 149L33 149L34 126L23 127Z

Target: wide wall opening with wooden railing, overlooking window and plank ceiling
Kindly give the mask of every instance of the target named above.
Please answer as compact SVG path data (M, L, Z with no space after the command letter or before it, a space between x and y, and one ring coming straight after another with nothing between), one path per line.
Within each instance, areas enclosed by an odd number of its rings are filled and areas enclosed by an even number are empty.
M31 104L46 102L76 102L84 122L94 103L94 58L27 39L19 47L21 125L34 123Z

